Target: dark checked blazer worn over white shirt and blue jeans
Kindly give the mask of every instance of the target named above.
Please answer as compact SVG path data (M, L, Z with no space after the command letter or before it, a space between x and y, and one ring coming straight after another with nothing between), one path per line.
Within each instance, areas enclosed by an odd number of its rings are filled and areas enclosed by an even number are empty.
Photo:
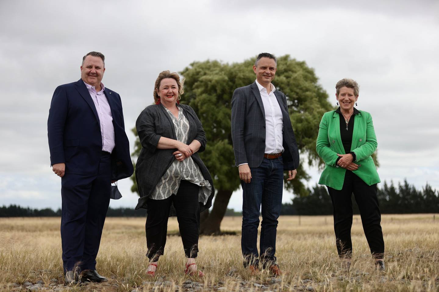
M288 114L287 99L278 90L274 91L284 118L283 143L284 170L299 167L299 150ZM256 82L235 89L232 97L232 141L235 166L248 163L259 167L265 151L265 110Z

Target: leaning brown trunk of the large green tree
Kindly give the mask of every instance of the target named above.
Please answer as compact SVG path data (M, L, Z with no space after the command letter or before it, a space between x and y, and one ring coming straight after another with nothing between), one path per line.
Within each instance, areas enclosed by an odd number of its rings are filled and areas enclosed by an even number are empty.
M221 225L224 214L226 214L227 205L229 204L231 196L232 191L230 190L218 190L218 193L216 193L215 202L213 203L212 212L210 212L209 216L200 223L200 234L221 234L219 226Z

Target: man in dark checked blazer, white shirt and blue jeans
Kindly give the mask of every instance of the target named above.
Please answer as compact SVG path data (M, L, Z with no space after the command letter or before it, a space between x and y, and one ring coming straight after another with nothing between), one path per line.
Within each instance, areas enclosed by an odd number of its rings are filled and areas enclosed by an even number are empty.
M241 249L244 267L252 274L258 272L259 260L271 274L281 274L274 254L283 172L288 170L287 180L294 179L299 166L287 100L271 84L276 70L276 58L270 53L260 53L253 66L256 81L237 88L232 97L233 150L243 197ZM259 257L256 242L261 205Z

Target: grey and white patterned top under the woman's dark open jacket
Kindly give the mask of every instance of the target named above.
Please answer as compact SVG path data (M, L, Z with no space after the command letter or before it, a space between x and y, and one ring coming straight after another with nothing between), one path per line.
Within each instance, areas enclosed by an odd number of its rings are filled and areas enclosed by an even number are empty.
M166 109L166 111L174 123L177 140L187 144L189 121L187 120L186 116L184 116L183 109L178 107L178 119L171 113L169 109ZM200 168L194 162L192 157L186 158L182 162L174 160L155 186L155 190L151 193L150 198L153 200L164 200L169 198L172 194L176 194L180 186L181 179L200 186L200 190L198 192L198 201L205 205L210 193L212 192L212 186L208 180L204 179Z

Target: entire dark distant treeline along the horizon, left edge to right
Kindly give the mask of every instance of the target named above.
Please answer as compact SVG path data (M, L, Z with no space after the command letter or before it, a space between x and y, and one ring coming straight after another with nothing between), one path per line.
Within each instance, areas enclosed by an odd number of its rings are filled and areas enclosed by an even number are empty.
M439 213L439 194L428 183L422 190L414 185L399 183L396 187L393 182L384 183L378 188L378 201L383 214L409 213ZM355 200L352 200L354 214L360 214ZM331 197L326 186L316 185L309 190L306 197L295 197L291 203L282 204L281 215L331 215ZM242 212L227 208L226 216L241 216ZM0 217L59 217L61 209L54 211L50 208L31 209L18 205L0 207ZM146 217L146 210L135 211L134 208L108 208L108 217Z

